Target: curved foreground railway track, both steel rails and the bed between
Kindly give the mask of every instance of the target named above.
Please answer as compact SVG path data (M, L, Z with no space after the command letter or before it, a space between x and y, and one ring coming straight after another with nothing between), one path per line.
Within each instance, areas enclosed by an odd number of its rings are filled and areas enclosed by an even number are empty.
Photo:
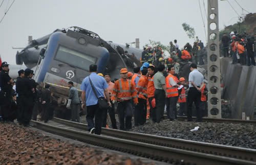
M256 150L102 128L89 134L86 124L54 118L55 126L33 121L34 126L96 146L170 163L256 164ZM74 130L75 129L75 130Z

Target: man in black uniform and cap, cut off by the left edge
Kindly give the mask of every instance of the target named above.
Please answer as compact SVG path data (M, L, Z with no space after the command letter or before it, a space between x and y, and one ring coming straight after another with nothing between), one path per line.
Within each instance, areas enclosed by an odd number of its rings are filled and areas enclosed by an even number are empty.
M7 62L3 62L0 73L0 106L4 122L9 122L8 112L12 101L12 83L13 80L9 76L9 64Z

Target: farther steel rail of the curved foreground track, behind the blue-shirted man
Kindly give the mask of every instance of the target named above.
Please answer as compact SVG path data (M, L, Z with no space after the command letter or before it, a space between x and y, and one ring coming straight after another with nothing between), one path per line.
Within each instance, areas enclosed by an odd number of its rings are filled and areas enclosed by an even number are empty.
M63 124L63 125L81 129L81 130L88 129L87 124L81 124L81 123L71 122L67 120L62 120L56 117L54 117L53 121L59 124ZM137 133L137 132L121 131L121 130L109 129L109 128L102 128L101 133L104 135L118 137L122 139L134 140L136 142L143 142L143 143L154 144L159 146L178 148L178 149L183 149L188 151L208 153L208 154L214 154L219 156L233 157L233 158L239 158L239 159L256 162L256 150L254 149L246 149L241 147L232 147L232 146L210 144L210 143L204 143L204 142L196 142L192 140L163 137L163 136L143 134L143 133Z

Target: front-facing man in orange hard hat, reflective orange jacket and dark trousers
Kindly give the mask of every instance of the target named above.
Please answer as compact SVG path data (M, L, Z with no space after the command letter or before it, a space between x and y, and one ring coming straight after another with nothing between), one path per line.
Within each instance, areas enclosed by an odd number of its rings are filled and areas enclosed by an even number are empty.
M120 70L121 79L114 85L111 100L117 102L117 112L119 117L120 130L130 130L132 128L133 105L138 104L137 91L135 86L127 79L128 70ZM124 122L125 119L125 122Z

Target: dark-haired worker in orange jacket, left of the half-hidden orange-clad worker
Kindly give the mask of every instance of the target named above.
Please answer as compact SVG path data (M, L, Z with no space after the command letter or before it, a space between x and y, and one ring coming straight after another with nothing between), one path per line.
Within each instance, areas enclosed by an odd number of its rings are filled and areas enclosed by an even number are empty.
M135 108L134 123L135 126L146 123L146 101L147 101L147 68L141 70L141 76L136 86L138 92L138 107Z

